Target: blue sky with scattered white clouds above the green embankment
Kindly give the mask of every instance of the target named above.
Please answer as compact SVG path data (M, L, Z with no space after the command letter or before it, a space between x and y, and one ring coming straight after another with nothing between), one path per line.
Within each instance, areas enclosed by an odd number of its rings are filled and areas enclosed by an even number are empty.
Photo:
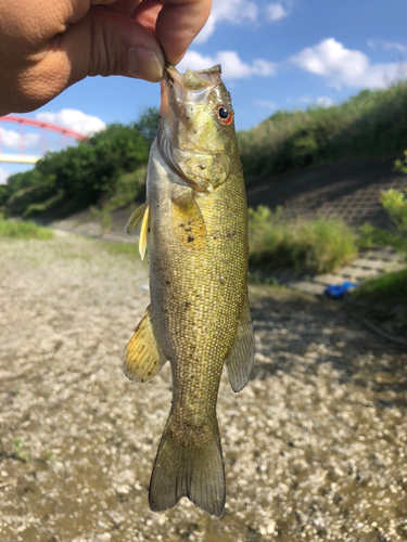
M179 65L222 65L238 129L277 109L329 106L364 88L407 77L405 0L214 0L211 18ZM92 132L135 120L158 106L160 87L124 77L89 78L27 116ZM3 153L16 153L18 128L0 126ZM26 131L28 154L40 153L37 130ZM61 140L49 134L49 147ZM0 164L0 182L26 169Z

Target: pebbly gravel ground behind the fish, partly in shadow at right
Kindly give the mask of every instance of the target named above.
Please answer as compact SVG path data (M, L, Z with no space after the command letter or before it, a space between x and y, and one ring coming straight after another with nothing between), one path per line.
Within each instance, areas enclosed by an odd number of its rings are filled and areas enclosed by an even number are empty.
M222 518L148 507L170 405L120 357L147 267L98 241L0 240L0 540L407 540L407 353L338 304L251 289L253 377L218 418Z

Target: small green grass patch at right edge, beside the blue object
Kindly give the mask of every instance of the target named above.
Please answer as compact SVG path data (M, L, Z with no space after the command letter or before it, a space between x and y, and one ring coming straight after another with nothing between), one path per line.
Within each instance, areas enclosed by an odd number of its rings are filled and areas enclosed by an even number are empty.
M365 282L352 297L355 300L407 302L407 269Z

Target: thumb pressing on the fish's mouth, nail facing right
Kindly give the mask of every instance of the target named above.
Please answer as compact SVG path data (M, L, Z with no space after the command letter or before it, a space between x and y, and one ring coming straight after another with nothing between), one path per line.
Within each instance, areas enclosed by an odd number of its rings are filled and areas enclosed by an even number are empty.
M67 86L97 75L122 75L151 82L163 77L165 60L157 40L142 25L119 13L91 9L60 39L60 50L69 65Z

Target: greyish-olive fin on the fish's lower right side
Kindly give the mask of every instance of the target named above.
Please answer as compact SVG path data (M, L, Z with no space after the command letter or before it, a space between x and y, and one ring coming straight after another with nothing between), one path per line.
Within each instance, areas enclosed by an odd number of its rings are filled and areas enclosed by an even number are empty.
M233 391L241 391L249 382L253 366L254 336L249 297L242 312L234 345L226 358L228 376Z

